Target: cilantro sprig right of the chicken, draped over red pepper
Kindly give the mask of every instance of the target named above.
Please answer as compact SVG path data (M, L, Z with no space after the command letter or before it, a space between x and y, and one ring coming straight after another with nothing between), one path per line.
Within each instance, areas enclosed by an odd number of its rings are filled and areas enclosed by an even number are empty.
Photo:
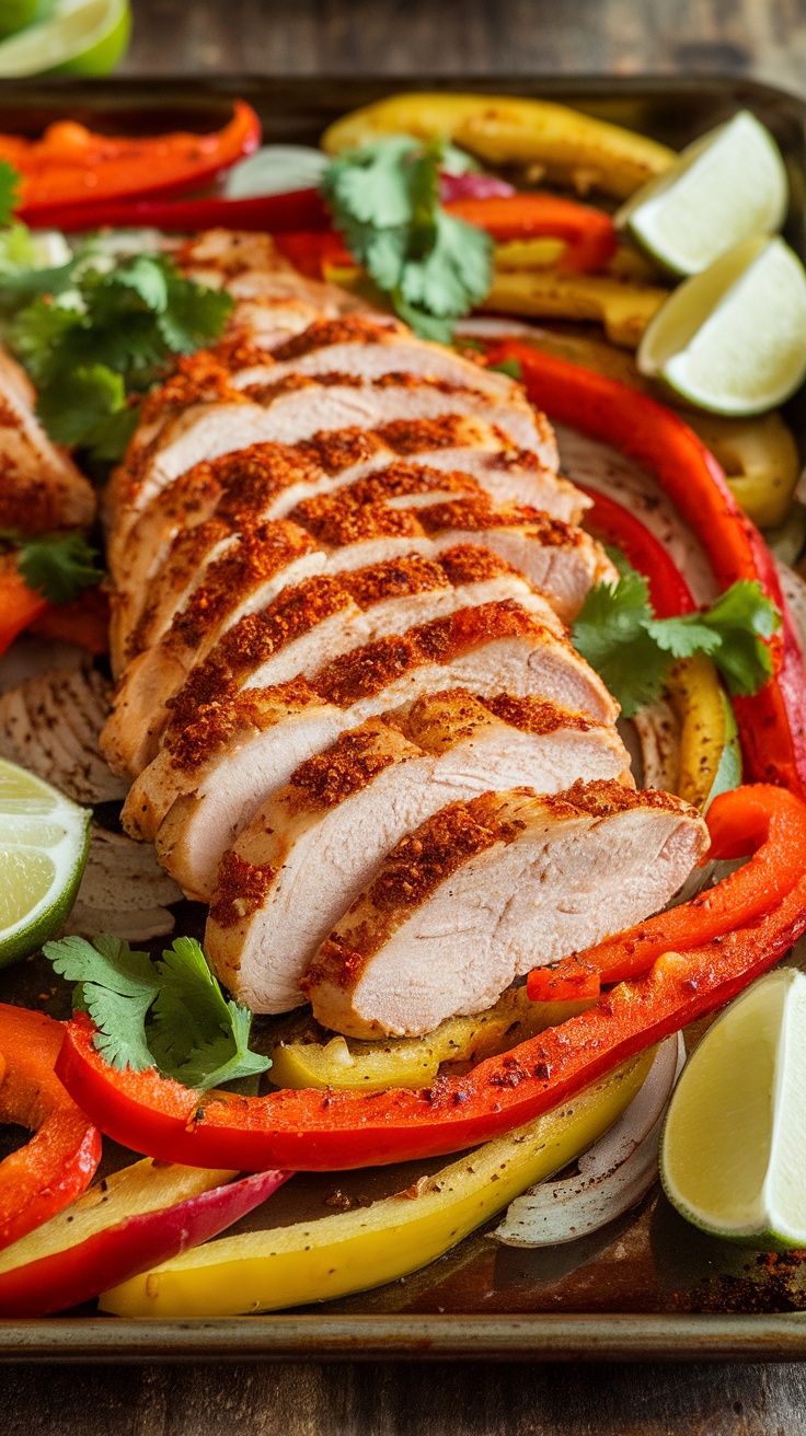
M773 672L767 639L782 616L759 583L734 583L710 609L657 619L649 586L611 550L618 583L588 593L573 625L573 643L621 704L625 718L654 702L678 658L705 653L731 695L754 694Z

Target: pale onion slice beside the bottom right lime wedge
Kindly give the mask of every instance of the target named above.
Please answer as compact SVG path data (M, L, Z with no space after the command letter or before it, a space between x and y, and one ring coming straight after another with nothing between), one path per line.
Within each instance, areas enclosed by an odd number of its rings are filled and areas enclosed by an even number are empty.
M556 1246L628 1212L658 1176L661 1126L682 1071L682 1034L661 1043L649 1076L619 1120L579 1159L579 1173L516 1198L491 1236L506 1246Z

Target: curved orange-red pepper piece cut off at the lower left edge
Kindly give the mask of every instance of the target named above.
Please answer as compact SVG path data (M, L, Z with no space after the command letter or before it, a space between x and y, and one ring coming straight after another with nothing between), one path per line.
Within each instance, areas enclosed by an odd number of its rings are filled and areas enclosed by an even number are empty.
M0 1162L0 1248L79 1196L101 1160L99 1132L53 1070L63 1035L43 1012L0 1004L0 1122L34 1133Z

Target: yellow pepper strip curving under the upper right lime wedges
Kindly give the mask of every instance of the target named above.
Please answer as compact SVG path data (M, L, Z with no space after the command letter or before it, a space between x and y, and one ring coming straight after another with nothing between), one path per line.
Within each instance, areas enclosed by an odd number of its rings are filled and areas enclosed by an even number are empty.
M519 246L511 247L511 260L501 250L509 247L501 246L496 251L496 266L500 269L540 267L537 261L530 264L527 256L519 256ZM759 528L773 528L783 523L800 477L800 455L792 431L777 411L753 419L727 419L720 414L703 414L674 404L668 392L664 393L659 385L638 372L631 353L590 335L536 329L529 342L547 355L583 365L609 379L621 379L622 383L668 404L700 435L721 465L730 491L747 517Z

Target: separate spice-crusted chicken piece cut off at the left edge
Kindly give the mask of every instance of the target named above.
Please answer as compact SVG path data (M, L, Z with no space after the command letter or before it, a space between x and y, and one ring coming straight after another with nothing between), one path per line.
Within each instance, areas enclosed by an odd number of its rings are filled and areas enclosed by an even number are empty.
M0 350L0 527L26 534L86 528L95 518L95 490L47 438L34 402L24 372Z

